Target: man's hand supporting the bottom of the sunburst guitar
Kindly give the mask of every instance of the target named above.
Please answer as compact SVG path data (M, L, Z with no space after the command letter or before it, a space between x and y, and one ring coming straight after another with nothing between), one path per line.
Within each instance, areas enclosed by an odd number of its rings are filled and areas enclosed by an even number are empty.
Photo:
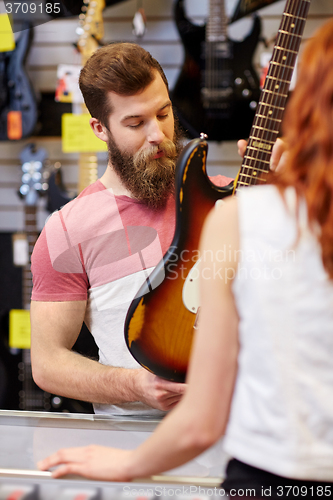
M135 385L139 401L162 411L171 410L181 399L186 384L164 380L141 368L136 370Z

